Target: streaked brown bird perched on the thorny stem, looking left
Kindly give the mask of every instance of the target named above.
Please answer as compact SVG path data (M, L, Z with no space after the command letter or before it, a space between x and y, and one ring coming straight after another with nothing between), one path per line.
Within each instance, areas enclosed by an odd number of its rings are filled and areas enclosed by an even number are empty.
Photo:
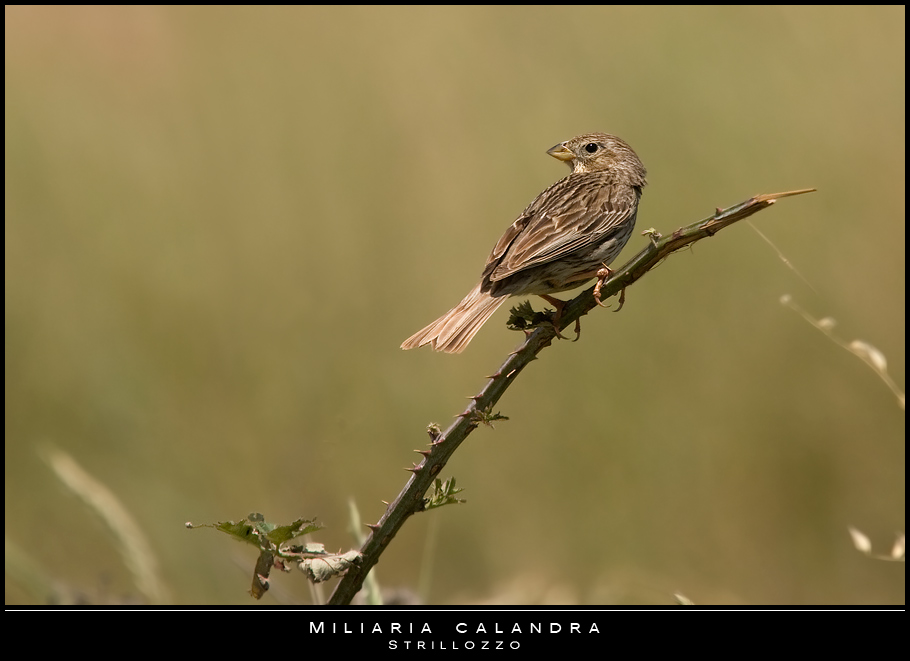
M645 166L615 135L588 133L547 153L572 173L537 196L487 258L480 282L454 308L401 345L461 353L509 296L574 289L603 274L632 235ZM561 308L557 309L557 315Z

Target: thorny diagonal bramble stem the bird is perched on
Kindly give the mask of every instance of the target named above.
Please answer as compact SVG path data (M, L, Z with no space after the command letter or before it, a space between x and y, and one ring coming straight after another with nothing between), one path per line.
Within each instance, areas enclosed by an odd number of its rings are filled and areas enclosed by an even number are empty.
M650 242L625 266L616 270L601 288L601 298L607 298L619 293L630 286L639 278L653 269L671 253L681 250L696 241L714 236L717 232L733 223L748 218L752 214L766 209L782 197L811 193L814 188L789 191L786 193L772 193L770 195L757 195L745 202L730 207L718 209L714 215L704 220L682 227L670 236L660 237L656 232L649 231ZM411 478L398 497L386 508L385 514L379 519L372 530L366 543L361 548L362 561L351 567L347 574L339 581L329 599L329 605L345 605L351 603L354 595L360 590L370 569L379 561L379 556L395 537L404 522L415 512L425 509L424 494L433 484L446 462L458 449L458 446L467 438L474 429L490 415L496 402L502 397L506 389L515 380L528 363L537 357L545 347L549 346L557 333L590 312L596 307L594 287L585 290L566 303L559 321L559 328L551 324L544 324L531 333L516 351L502 364L483 389L471 398L471 403L465 411L457 416L448 429L439 434L431 435L433 442L431 450L425 455L423 461L406 470L411 471ZM436 431L436 430L434 430Z

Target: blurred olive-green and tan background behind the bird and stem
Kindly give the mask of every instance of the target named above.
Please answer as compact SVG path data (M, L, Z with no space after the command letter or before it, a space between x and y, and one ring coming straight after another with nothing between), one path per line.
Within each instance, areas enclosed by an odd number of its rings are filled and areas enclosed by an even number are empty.
M187 520L316 516L355 546L348 500L378 519L522 336L504 307L459 356L398 345L588 131L647 166L641 230L818 188L752 219L811 287L746 223L671 257L522 374L446 467L467 504L411 519L380 584L904 603L904 565L847 534L904 529L904 413L779 302L903 386L904 55L894 7L8 7L6 603L46 599L34 576L149 598L51 447L134 517L162 601L254 603L255 550Z

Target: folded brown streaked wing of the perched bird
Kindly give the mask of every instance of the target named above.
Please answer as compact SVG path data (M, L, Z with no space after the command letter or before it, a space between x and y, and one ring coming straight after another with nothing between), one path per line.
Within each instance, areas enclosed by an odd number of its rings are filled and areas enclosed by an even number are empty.
M625 189L625 195L621 191ZM487 259L490 280L596 245L635 213L635 195L605 173L572 174L537 196Z

